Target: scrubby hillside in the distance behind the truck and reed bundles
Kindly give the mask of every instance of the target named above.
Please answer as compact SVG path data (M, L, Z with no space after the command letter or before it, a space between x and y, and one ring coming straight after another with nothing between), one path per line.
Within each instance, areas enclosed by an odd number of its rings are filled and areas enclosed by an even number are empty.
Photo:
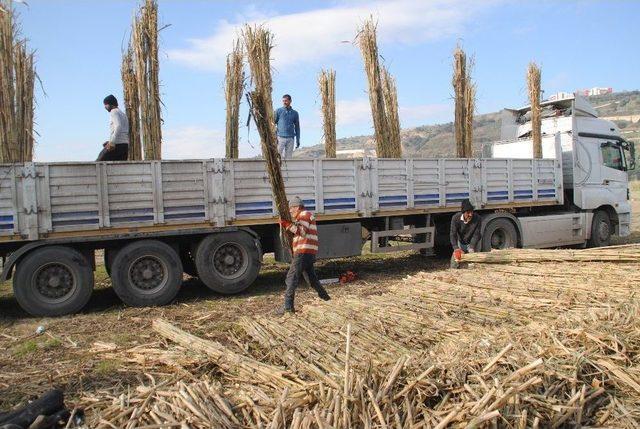
M588 97L601 118L610 119L620 127L627 140L639 146L640 153L640 91L618 92ZM403 155L414 158L455 156L453 123L424 125L402 130ZM500 139L500 113L477 115L473 127L474 148L480 153L482 144ZM338 140L338 150L375 149L372 135ZM324 156L324 147L315 145L296 151L296 157ZM639 162L640 167L640 162ZM640 176L638 172L633 173Z

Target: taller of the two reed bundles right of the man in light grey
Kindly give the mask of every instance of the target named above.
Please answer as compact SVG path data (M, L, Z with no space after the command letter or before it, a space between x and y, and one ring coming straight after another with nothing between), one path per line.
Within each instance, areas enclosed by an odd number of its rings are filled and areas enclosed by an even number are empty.
M158 4L145 0L131 33L145 159L161 159L162 118L158 61Z

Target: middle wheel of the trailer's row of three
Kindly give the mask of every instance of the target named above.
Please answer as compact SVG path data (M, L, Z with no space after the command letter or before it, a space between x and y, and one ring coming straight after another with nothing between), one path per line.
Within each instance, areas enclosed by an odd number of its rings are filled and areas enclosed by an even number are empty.
M113 289L133 307L168 304L182 284L182 262L161 241L142 240L118 251L111 267Z

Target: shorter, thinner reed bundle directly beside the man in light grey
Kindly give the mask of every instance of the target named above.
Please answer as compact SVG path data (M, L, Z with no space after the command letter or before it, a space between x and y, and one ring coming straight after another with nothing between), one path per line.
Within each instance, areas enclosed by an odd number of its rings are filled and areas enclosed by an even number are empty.
M136 84L133 48L129 46L122 55L122 87L124 107L129 120L129 161L142 160L142 140L140 139L140 94Z

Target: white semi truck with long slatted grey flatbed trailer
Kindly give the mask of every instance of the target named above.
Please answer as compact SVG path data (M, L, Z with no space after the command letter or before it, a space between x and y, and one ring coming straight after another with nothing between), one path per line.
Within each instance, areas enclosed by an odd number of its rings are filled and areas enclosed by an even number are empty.
M482 250L604 246L630 233L634 146L585 98L542 103L543 157L530 109L504 110L501 140L460 158L286 159L287 195L316 213L319 258L371 251L446 252L468 198ZM222 294L250 287L262 256L284 261L259 159L29 162L0 166L1 281L36 316L80 311L104 250L131 306L171 302L184 273Z

